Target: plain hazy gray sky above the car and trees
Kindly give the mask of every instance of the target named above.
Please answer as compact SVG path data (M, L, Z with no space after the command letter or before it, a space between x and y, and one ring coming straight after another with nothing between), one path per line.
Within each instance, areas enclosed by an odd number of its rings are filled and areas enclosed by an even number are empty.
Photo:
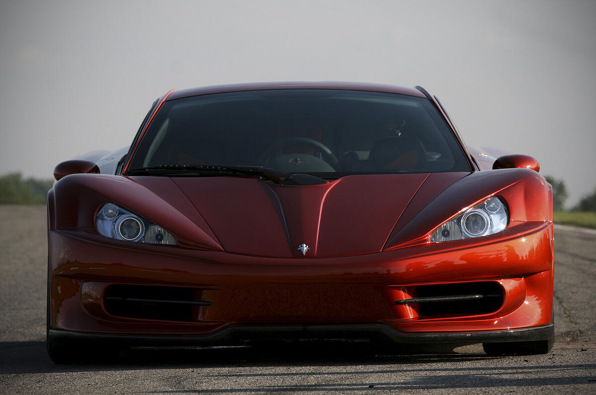
M596 1L2 1L0 174L128 146L171 88L361 81L437 95L467 144L596 187Z

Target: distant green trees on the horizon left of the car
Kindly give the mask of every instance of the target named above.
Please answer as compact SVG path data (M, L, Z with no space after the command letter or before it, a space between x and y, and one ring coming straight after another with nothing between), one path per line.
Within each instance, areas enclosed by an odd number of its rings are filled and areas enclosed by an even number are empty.
M36 180L20 173L5 174L0 177L0 204L44 204L52 180Z

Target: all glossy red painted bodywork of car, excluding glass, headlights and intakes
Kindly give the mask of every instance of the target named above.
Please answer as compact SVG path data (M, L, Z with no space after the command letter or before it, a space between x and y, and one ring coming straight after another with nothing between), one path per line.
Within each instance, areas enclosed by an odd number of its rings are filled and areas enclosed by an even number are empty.
M424 97L404 88L341 86ZM212 87L170 92L160 103L296 87L339 84ZM430 242L437 226L489 196L507 202L507 229ZM374 323L413 334L552 323L551 187L530 169L350 175L316 186L249 177L73 174L58 181L48 198L52 330L200 335L229 326ZM97 234L95 217L105 202L159 224L179 244L145 245ZM310 248L305 255L298 250L302 243ZM414 297L420 285L479 280L504 289L498 310L420 317L415 304L395 303ZM212 305L196 307L192 322L117 317L104 305L105 289L114 283L198 288Z

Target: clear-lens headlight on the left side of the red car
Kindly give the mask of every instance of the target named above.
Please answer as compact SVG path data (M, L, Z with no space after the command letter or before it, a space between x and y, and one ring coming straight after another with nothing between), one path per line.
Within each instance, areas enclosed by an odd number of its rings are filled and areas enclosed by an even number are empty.
M176 244L171 233L144 218L115 205L105 203L97 213L97 232L104 236L129 242Z

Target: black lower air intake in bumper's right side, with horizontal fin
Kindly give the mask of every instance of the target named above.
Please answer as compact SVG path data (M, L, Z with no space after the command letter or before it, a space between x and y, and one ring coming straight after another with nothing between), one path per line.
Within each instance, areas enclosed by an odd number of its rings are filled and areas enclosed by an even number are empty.
M418 314L489 314L501 308L504 290L498 282L485 281L460 284L420 285L415 297L396 304L418 304ZM414 307L414 306L412 306Z

